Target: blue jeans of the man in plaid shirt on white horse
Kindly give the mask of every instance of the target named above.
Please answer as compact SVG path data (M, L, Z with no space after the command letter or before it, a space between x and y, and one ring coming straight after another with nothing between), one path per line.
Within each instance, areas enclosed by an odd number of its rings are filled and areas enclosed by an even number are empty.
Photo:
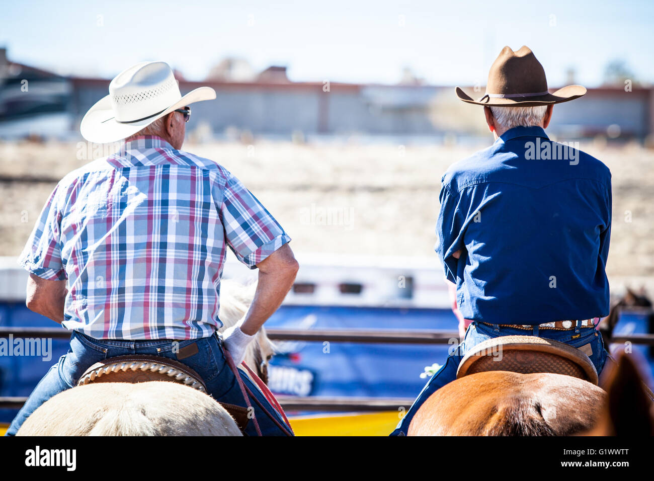
M177 359L176 352L181 351L183 347L189 346L194 342L198 346L198 352L190 357ZM198 372L207 385L209 395L218 401L247 408L239 383L236 381L236 377L225 359L222 350L222 341L217 335L201 339L179 341L179 346L176 346L175 352L173 352L173 346L172 340L165 339L152 341L100 340L91 338L80 332L73 332L71 336L71 347L68 353L61 356L59 362L52 366L39 384L37 384L37 387L32 391L27 402L18 412L9 429L7 429L7 436L16 435L16 432L20 429L25 419L41 406L41 404L48 401L54 395L61 393L61 391L77 385L79 378L90 366L109 357L128 354L155 355L175 359L184 363ZM275 419L281 425L287 427L277 411L267 402L266 397L250 381L250 378L244 372L241 372L241 378L245 385L249 387L250 391L254 393L256 399L266 407L267 412L271 416L275 416ZM254 416L256 416L256 420L264 436L284 435L283 431L269 418L254 399L250 399L250 402L254 408ZM245 433L250 436L257 435L254 421L249 421Z

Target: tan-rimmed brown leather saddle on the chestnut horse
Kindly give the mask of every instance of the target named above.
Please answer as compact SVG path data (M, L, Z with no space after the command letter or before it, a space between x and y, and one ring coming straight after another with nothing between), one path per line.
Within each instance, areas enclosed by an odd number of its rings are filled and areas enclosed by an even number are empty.
M585 353L536 336L500 336L477 344L459 363L456 378L486 371L551 372L598 383L597 370Z

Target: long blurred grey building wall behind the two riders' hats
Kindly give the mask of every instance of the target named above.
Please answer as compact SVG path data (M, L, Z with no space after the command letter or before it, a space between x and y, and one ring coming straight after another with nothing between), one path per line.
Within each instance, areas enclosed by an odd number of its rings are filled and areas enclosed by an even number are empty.
M70 111L78 128L84 113L108 92L109 80L72 79ZM202 85L216 100L192 105L194 120L213 134L228 128L254 135L303 134L443 135L483 134L480 107L456 99L453 88L436 86L360 86L320 83L181 82L182 94ZM472 91L472 89L468 89ZM654 90L598 88L575 101L555 105L549 131L560 138L606 135L612 124L625 137L652 134Z

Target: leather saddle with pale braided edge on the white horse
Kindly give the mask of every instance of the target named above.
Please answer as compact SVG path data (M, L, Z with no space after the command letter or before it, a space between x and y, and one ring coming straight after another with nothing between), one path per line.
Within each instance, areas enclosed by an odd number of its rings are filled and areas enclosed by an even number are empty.
M125 355L110 357L90 366L80 377L77 385L95 382L147 382L172 381L198 389L207 394L207 386L199 374L185 364L165 357L148 355ZM241 406L218 401L236 421L242 433L249 421L248 410Z

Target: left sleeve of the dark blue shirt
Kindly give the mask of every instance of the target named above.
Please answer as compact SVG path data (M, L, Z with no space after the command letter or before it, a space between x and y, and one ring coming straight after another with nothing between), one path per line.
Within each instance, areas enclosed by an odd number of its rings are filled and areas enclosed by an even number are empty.
M445 278L456 284L457 264L459 260L464 260L464 253L460 259L452 257L452 254L459 249L464 249L463 227L464 217L459 209L460 196L450 192L449 188L441 187L440 193L441 208L436 221L436 241L435 250L443 264ZM468 209L465 209L467 211Z

